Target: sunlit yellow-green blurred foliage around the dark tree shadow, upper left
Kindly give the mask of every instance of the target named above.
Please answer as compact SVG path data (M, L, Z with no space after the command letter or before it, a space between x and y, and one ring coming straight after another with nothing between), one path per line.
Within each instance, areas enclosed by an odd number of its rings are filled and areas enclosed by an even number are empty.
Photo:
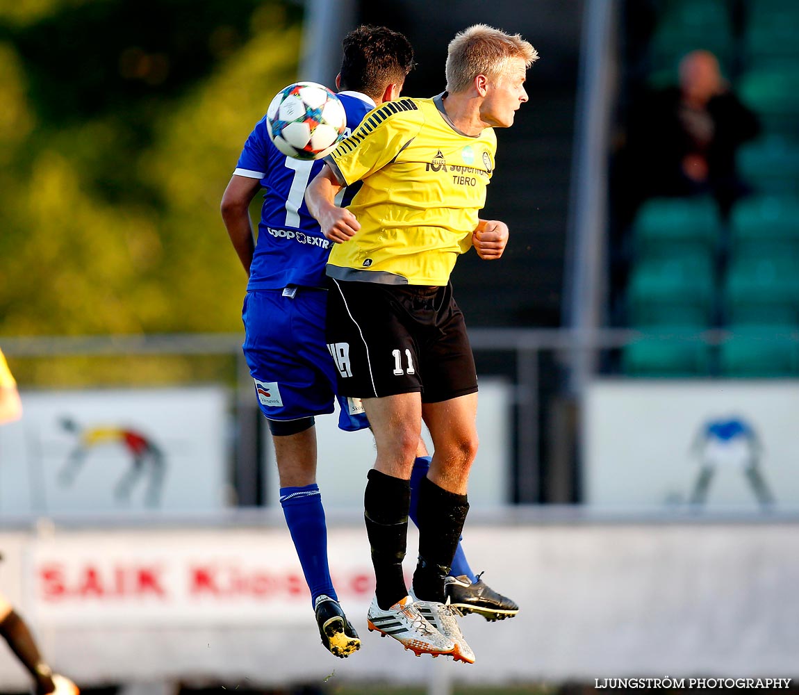
M92 167L113 157L113 122L30 134L21 70L0 45L0 142L28 172L0 173L0 335L239 331L246 277L219 204L299 46L299 27L272 22L161 109L151 145L113 161L121 180L157 191L148 205L97 193Z

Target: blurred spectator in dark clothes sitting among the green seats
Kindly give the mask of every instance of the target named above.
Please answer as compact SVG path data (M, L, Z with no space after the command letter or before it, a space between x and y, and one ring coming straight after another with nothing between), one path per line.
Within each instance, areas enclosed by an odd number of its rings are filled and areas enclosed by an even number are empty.
M726 218L749 193L735 157L760 124L729 89L710 51L686 54L679 84L646 93L630 109L628 124L615 186L623 224L649 197L710 194Z

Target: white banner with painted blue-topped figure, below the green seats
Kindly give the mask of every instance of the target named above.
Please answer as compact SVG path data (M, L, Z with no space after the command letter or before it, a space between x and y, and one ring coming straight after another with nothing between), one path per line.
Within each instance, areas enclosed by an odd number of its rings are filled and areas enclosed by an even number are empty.
M586 398L592 506L768 511L799 506L799 383L615 381Z

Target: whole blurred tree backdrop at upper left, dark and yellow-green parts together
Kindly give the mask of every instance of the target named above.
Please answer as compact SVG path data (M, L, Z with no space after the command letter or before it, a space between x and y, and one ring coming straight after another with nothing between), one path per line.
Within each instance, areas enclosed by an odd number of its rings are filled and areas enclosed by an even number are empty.
M240 330L219 202L296 79L301 12L0 3L0 336Z

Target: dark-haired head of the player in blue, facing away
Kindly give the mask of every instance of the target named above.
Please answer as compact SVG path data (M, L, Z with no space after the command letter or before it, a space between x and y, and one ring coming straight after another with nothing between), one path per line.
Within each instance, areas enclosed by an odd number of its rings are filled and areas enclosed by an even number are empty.
M399 31L364 24L342 42L341 89L380 97L392 83L401 83L414 66L413 46Z

